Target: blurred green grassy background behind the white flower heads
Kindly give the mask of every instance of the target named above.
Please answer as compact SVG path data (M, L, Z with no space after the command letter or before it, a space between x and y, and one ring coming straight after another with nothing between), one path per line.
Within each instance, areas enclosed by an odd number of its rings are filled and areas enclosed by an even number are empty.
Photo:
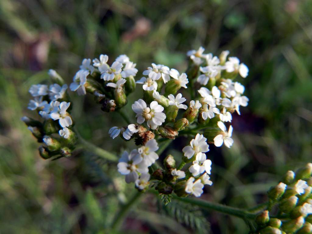
M115 164L91 153L41 159L39 144L20 121L34 116L27 110L28 89L48 83L48 69L70 83L83 58L102 53L109 62L127 54L137 63L137 79L151 62L184 71L186 51L201 45L216 55L230 50L249 67L249 76L240 80L249 105L233 116L233 147L210 147L214 184L203 199L255 206L283 173L311 161L309 0L1 0L0 21L0 233L108 233L120 204L134 192ZM88 95L71 96L85 139L116 154L133 147L107 134L120 125L118 114L102 112ZM129 97L128 110L139 96ZM180 145L187 142L177 139L162 157L181 157ZM147 194L122 230L241 234L249 228L238 218L177 202L164 207Z

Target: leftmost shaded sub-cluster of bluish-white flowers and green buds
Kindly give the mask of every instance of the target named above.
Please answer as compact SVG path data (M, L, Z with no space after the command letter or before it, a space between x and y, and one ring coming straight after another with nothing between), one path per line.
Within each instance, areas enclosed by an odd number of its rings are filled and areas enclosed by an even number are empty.
M40 120L22 117L28 129L44 144L39 147L42 158L54 156L68 157L76 144L76 134L71 129L73 121L70 115L68 86L56 71L48 73L55 81L52 85L32 85L29 93L33 99L28 104L28 109L38 113Z

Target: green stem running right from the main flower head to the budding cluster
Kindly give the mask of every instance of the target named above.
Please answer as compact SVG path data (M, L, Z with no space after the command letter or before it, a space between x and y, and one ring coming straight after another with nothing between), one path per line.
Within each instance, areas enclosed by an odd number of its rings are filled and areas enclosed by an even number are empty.
M189 198L189 197L182 198L176 195L173 195L173 198L181 202L196 205L207 210L214 210L214 211L218 211L224 214L240 217L243 219L255 219L257 216L257 213L251 213L243 209L230 207L230 206L226 206L222 204L216 204L216 203L208 202L202 199L194 199L194 198Z

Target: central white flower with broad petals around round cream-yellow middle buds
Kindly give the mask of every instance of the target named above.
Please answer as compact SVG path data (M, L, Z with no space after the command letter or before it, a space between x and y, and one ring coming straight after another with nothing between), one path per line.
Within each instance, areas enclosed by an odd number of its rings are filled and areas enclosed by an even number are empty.
M159 125L165 122L166 115L162 112L163 107L157 101L152 101L150 108L147 107L144 100L139 99L132 104L132 110L137 114L137 123L142 124L147 121L147 125L151 129L156 129Z

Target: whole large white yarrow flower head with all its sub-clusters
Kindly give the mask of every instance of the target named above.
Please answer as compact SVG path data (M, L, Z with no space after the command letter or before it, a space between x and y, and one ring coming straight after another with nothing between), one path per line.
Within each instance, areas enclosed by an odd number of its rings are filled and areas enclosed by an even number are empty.
M126 183L135 183L140 191L153 187L160 194L199 197L205 185L212 185L208 143L228 148L233 144L233 128L225 123L232 122L232 113L240 114L239 107L248 104L244 86L233 80L238 74L245 78L248 68L235 57L227 60L228 51L219 57L203 52L202 47L188 51L185 73L152 63L136 81L138 70L128 56L120 55L108 63L109 57L102 54L92 61L83 59L73 77L69 89L78 95L94 95L105 112L121 111L136 84L142 85L143 96L131 104L132 115L128 113L132 121L127 126L111 127L108 132L113 139L120 135L126 141L135 141L136 148L124 151L117 167ZM69 155L76 139L71 130L67 85L56 71L50 70L49 75L56 84L33 85L29 90L34 97L29 109L37 110L43 123L23 118L38 141L45 143L40 148L43 158L66 156L65 149ZM176 165L173 156L168 155L162 167L156 162L162 153L160 144L179 135L191 138L182 149L181 163Z

